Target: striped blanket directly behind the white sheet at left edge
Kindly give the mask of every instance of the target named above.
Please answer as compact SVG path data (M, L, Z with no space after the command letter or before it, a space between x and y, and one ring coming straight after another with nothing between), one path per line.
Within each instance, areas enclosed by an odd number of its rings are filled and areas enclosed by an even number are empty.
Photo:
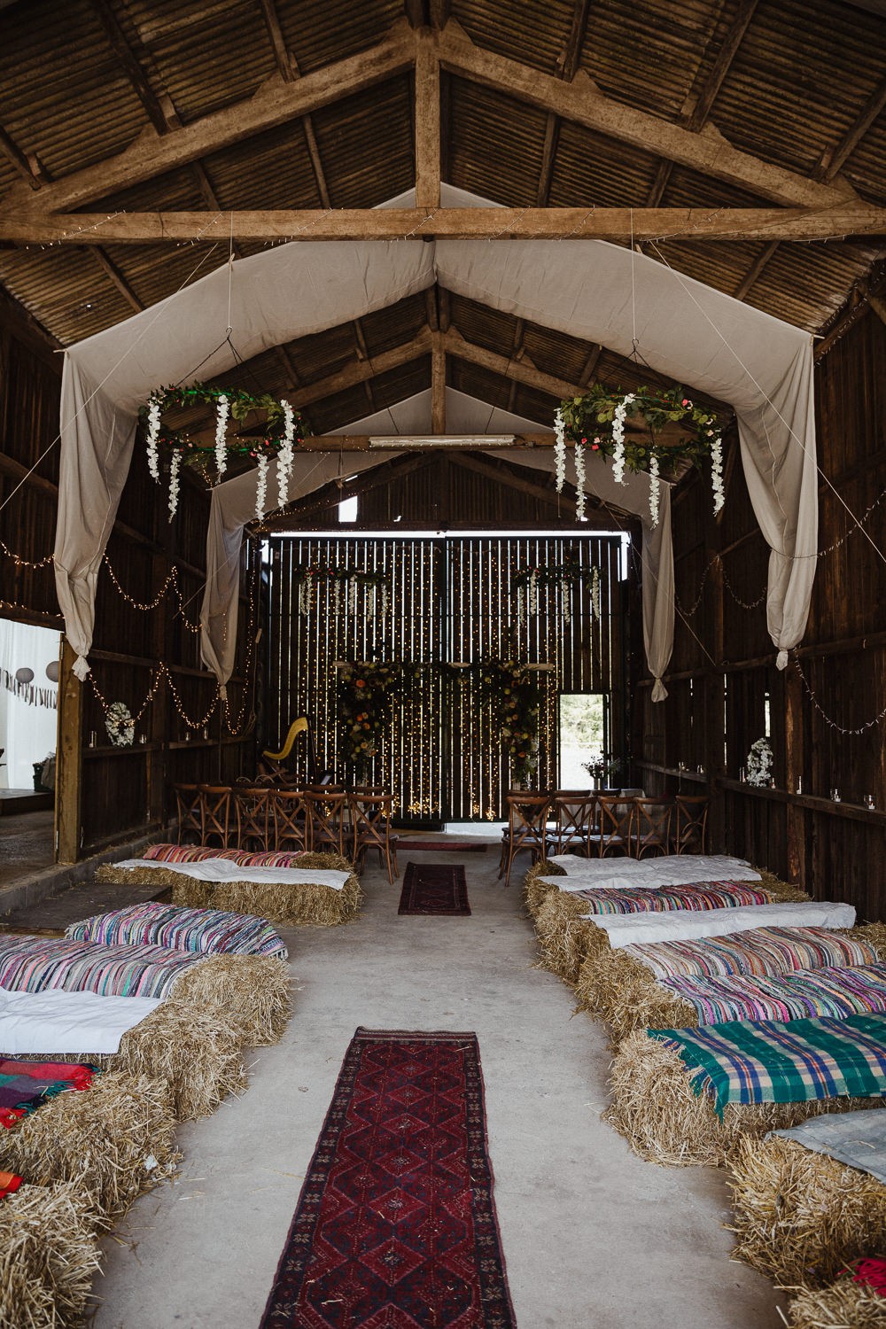
M0 987L105 997L169 997L179 974L205 957L163 946L101 946L65 937L0 936Z

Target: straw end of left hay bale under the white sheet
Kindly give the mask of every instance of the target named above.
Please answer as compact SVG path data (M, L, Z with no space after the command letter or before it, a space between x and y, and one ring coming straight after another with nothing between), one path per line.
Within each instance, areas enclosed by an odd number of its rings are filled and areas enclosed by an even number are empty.
M165 1080L177 1120L193 1122L210 1116L227 1094L246 1088L240 1047L236 1011L170 997L124 1034L120 1051L106 1065Z

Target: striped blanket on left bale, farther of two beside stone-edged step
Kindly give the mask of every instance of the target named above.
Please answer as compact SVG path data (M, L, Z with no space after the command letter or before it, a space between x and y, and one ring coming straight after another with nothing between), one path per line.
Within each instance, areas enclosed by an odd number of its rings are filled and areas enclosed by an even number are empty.
M65 936L104 946L163 946L198 950L201 954L288 957L283 941L264 918L154 901L72 922Z

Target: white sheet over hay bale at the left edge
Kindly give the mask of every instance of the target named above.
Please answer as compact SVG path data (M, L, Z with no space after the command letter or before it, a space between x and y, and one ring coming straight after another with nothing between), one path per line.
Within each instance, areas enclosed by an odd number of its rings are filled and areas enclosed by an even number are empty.
M129 1029L157 1010L159 997L98 993L9 993L0 989L0 1053L43 1057L116 1053Z

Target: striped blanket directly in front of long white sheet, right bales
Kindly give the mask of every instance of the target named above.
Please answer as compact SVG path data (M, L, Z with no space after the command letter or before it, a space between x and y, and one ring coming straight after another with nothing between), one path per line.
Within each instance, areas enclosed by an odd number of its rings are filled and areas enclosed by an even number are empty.
M798 969L849 969L875 965L879 956L862 937L846 937L828 928L754 928L725 937L695 941L654 941L624 946L664 982L697 975L790 974Z

